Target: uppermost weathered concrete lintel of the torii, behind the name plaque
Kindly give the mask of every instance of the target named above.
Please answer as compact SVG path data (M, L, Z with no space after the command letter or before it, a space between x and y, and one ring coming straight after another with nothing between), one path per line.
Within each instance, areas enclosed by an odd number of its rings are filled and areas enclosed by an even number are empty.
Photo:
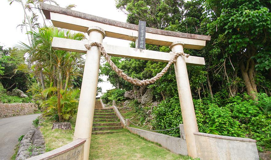
M104 29L107 37L128 41L135 41L138 35L138 25L101 18L46 3L40 5L45 17L50 19L55 27L87 33L88 27L98 26ZM202 49L206 41L210 41L210 39L210 36L205 35L146 28L146 43L148 44L170 46L174 41L183 41L184 48Z

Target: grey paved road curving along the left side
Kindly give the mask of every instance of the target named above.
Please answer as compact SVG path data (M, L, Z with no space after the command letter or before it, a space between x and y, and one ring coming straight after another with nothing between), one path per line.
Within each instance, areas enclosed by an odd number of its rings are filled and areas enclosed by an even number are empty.
M32 121L39 115L21 115L0 119L0 160L11 158L18 138L27 133Z

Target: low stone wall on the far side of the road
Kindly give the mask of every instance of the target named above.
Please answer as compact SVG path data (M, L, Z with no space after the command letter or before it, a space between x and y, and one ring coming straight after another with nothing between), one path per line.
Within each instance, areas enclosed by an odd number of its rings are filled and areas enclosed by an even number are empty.
M28 115L38 110L35 103L0 103L0 118Z

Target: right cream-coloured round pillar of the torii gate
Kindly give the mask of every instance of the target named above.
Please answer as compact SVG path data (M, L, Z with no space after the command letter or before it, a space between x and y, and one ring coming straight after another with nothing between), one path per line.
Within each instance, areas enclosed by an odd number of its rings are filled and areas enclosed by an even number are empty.
M170 49L173 53L178 52L183 53L183 46L184 46L183 42L175 41L171 44ZM176 63L174 64L174 68L183 117L183 126L187 144L187 152L189 156L196 158L197 149L194 132L198 132L198 124L194 110L184 56L177 57Z

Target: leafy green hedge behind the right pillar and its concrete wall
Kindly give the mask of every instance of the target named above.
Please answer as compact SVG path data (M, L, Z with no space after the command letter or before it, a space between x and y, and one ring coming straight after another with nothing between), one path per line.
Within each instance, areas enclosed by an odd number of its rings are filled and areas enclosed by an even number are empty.
M246 137L257 140L260 151L271 150L271 97L258 94L258 101L247 95L221 99L194 100L198 130L226 136ZM162 101L153 108L155 129L169 129L183 123L178 97ZM164 134L179 137L179 129L164 131Z

